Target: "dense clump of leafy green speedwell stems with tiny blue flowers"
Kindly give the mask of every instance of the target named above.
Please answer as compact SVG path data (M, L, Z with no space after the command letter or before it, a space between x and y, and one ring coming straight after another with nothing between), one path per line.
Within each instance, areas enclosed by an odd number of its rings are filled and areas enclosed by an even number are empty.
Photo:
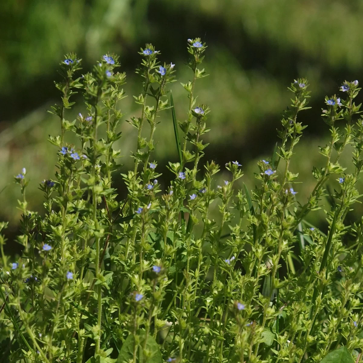
M60 135L49 139L58 171L40 183L44 213L28 208L24 168L15 176L22 218L14 243L23 246L21 256L5 256L0 237L1 362L362 359L363 228L362 221L344 223L360 197L358 81L344 82L339 95L325 98L322 117L331 140L320 153L326 161L313 169L316 185L299 204L298 175L289 166L306 127L298 118L309 108L306 79L291 83L281 141L258 162L256 187L249 191L239 180L238 158L223 166L201 162L209 107L197 102L195 84L206 76L207 47L199 38L187 44L191 81L182 83L189 107L181 122L169 95L174 64L160 64L151 44L139 52L142 90L134 97L140 113L127 120L138 136L134 166L118 186L124 199L113 181L120 173L114 143L121 138L126 77L118 57L105 54L82 76L76 54L61 62L61 103L51 111ZM77 92L85 112L68 121ZM153 158L160 113L174 124L180 159L168 164L174 177L166 189ZM67 142L70 132L76 144ZM353 152L351 174L339 164L346 148ZM221 168L229 178L216 185ZM327 234L306 221L323 196L330 201ZM212 208L219 210L216 220Z

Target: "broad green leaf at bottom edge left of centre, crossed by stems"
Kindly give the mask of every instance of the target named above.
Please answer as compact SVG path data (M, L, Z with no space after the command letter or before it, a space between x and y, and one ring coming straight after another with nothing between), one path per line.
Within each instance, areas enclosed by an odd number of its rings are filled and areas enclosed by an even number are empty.
M142 346L144 344L144 332L140 336L140 347L139 351L142 350ZM123 343L120 353L117 358L117 363L128 363L129 360L134 357L134 344L135 338L134 335L130 334L125 342ZM147 337L146 341L146 351L150 352L150 356L144 360L146 363L163 363L163 357L160 352L159 344L156 343L155 339L150 335Z

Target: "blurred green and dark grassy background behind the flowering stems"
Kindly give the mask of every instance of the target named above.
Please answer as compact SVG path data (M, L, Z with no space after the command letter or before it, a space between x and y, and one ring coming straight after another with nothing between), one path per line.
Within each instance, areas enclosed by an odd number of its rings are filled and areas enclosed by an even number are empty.
M204 160L220 165L229 160L243 164L243 181L253 187L256 160L268 158L277 141L282 110L289 104L287 86L297 77L310 81L313 109L300 121L309 127L297 147L291 170L303 183L294 188L305 202L314 187L312 166L321 166L318 145L326 143L329 129L320 117L325 94L338 93L347 79L363 81L363 2L360 0L2 0L0 2L0 220L16 231L20 190L13 175L26 167L31 179L29 209L42 210L40 181L52 177L56 150L46 141L59 134L59 120L46 112L58 102L53 80L64 54L83 58L83 71L91 69L106 52L120 55L127 73L127 97L120 103L125 119L140 109L132 95L141 91L134 70L137 54L146 42L160 50L160 61L176 64L176 76L187 82L187 38L201 37L208 45L204 68L209 77L197 82L200 103L211 107L212 131ZM188 99L179 82L171 86L179 120L186 116ZM359 101L359 100L358 100ZM82 105L66 115L73 120ZM156 131L155 160L171 178L165 165L176 161L170 111L164 111ZM343 125L342 125L343 126ZM122 123L119 143L125 170L131 163L134 129ZM71 140L70 138L68 140ZM351 150L342 164L351 165ZM348 169L349 170L349 169ZM228 178L222 173L221 179ZM337 185L334 177L329 182ZM125 192L121 179L117 187ZM350 213L353 221L362 207ZM324 225L323 213L310 221Z

